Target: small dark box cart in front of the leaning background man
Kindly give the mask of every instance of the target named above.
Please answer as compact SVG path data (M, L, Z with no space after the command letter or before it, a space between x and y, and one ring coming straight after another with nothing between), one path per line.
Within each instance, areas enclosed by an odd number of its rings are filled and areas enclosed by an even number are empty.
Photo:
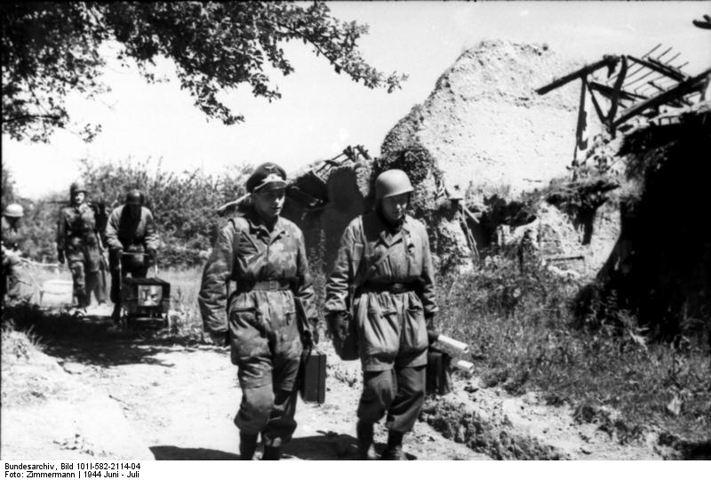
M122 257L148 253L124 252ZM158 278L158 266L154 266L153 278L124 277L121 271L121 259L118 261L118 274L121 278L119 291L121 326L125 330L158 330L168 326L168 310L171 308L171 284Z

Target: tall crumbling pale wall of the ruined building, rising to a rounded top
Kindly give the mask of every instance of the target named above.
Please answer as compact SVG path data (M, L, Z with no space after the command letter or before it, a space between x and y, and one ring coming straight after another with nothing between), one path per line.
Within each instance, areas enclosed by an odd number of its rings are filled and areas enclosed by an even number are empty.
M534 91L555 72L576 66L546 45L482 42L462 53L427 100L387 133L377 170L399 167L428 179L417 181L414 210L430 227L441 270L472 267L476 252L467 235L481 248L499 226L491 216L481 223L453 215L452 192L466 192L461 202L486 215L491 198L511 202L568 173L579 85L545 97Z

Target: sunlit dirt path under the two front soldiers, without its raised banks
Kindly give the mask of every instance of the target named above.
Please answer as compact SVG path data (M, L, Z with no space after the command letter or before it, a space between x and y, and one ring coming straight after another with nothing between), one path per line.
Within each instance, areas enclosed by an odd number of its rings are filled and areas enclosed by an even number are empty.
M240 402L236 367L228 351L170 341L107 338L53 340L46 352L84 384L116 400L156 460L233 460ZM332 354L332 351L330 352ZM299 427L285 456L300 460L355 460L359 366L329 355L328 393L322 405L297 410ZM387 433L376 431L378 449ZM419 460L486 460L418 422L406 452Z

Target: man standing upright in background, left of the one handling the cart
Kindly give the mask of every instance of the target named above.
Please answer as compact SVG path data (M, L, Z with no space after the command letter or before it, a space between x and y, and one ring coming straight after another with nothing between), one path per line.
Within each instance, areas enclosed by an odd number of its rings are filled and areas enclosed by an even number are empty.
M100 305L106 303L100 227L92 206L86 201L86 193L83 183L72 183L70 204L60 210L57 220L57 259L60 263L67 260L79 308L89 306L92 292Z

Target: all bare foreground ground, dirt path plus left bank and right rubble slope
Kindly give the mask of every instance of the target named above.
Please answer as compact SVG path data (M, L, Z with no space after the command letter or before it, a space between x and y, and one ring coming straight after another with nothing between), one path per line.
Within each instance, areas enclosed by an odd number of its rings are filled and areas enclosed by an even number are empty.
M232 418L240 389L227 349L184 339L129 337L104 317L80 323L74 332L44 339L47 355L41 364L16 364L4 375L5 449L23 458L46 458L44 443L58 459L237 459ZM285 448L287 459L356 460L360 366L340 361L330 345L324 351L329 355L326 403L300 401L299 427ZM64 403L47 385L64 392ZM668 458L658 436L630 441L594 420L575 420L565 405L547 405L534 393L507 396L479 388L475 378L455 380L450 395L428 398L420 420L406 437L411 460ZM31 435L28 426L34 428ZM377 450L386 439L380 424ZM126 443L136 448L127 450Z

